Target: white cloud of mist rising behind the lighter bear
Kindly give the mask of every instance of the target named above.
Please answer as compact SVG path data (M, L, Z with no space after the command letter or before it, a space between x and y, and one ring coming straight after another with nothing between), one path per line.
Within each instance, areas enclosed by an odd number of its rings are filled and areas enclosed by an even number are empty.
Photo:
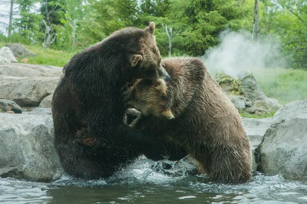
M261 68L288 66L286 59L280 54L279 40L274 36L251 40L251 34L246 31L224 31L219 38L221 43L207 50L202 57L213 76L218 70L238 77L240 70L255 73Z

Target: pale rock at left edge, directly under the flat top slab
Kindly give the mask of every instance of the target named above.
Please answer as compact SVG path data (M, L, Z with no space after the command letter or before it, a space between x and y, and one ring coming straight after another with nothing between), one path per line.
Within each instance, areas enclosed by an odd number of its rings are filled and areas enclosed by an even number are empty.
M52 94L59 78L7 77L0 75L0 98L15 101L19 106L38 106Z

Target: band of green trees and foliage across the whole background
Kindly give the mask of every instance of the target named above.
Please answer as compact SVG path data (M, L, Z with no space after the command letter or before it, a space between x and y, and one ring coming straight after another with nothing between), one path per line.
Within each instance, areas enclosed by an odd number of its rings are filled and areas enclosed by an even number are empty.
M46 20L45 1L16 0L20 17L14 19L14 33L10 38L0 38L40 45L46 29L41 21ZM34 8L37 3L39 14ZM76 19L77 50L121 28L145 28L155 21L162 56L168 54L168 37L162 23L173 31L172 55L203 56L209 47L220 43L218 35L226 29L251 32L254 0L48 0L48 11L52 33L58 34L50 45L53 49L72 49L70 23ZM292 67L307 69L305 0L259 1L259 18L260 35L277 35Z

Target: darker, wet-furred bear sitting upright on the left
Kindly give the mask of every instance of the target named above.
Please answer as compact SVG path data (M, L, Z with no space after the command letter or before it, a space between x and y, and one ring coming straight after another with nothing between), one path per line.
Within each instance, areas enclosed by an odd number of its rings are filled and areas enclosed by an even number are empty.
M154 31L152 22L144 30L119 30L64 66L53 94L52 115L55 146L69 174L98 179L141 154L163 158L165 152L156 139L123 123L121 95L122 88L135 79L169 78L161 66ZM90 139L82 137L83 130Z

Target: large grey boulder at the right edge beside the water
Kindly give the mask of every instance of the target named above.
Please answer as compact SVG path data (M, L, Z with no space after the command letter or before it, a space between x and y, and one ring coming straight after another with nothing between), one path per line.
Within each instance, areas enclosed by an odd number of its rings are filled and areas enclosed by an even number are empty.
M307 181L307 99L279 109L258 148L258 170Z

